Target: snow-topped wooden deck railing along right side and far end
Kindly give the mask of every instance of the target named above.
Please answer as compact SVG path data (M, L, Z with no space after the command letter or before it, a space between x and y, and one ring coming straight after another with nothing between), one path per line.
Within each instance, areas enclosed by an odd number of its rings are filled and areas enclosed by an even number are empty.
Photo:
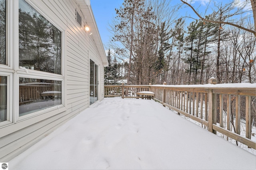
M115 93L111 95L111 91ZM221 133L256 149L256 142L251 139L255 135L251 121L255 119L255 109L251 107L256 102L255 87L106 85L105 97L141 98L136 95L140 91L154 92L153 99L163 106L201 123L214 134ZM245 131L241 131L241 122Z

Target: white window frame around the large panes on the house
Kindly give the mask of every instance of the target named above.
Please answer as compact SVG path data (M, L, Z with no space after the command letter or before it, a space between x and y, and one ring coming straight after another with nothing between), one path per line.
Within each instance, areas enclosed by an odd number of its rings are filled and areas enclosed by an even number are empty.
M63 111L66 111L66 97L65 97L65 78L64 68L65 61L64 56L66 54L66 25L62 22L58 22L57 16L51 16L50 14L43 12L40 9L39 1L33 2L31 0L25 0L32 8L40 13L46 20L54 25L61 32L61 74L54 74L49 72L43 72L38 70L28 69L26 70L19 68L19 2L13 0L6 0L6 65L0 64L1 76L7 76L8 87L7 87L7 121L0 122L0 129L18 123L20 121L27 120L29 124L42 121ZM47 7L47 6L44 6ZM61 81L62 85L62 99L61 104L52 106L39 111L34 111L26 115L19 116L19 78L36 78L46 80L58 80ZM28 120L30 119L30 120Z

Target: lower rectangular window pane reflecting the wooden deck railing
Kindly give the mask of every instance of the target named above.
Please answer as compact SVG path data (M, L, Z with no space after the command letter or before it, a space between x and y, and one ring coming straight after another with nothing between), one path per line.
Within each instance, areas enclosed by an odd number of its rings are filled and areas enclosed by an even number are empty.
M19 115L60 105L62 102L62 82L35 78L20 78Z

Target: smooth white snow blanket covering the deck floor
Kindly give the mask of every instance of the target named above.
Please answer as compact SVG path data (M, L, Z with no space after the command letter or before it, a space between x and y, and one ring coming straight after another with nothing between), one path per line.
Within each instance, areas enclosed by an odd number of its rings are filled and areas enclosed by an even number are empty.
M153 100L105 98L10 169L256 169L256 156Z

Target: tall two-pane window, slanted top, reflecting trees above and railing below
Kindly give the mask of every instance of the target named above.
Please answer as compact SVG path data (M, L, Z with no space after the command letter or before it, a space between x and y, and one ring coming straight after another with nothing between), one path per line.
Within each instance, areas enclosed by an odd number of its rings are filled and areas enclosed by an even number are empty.
M19 66L62 74L61 37L58 28L25 0L19 0ZM63 81L54 80L58 75L49 74L49 79L41 76L33 72L33 76L19 77L19 116L62 104Z

